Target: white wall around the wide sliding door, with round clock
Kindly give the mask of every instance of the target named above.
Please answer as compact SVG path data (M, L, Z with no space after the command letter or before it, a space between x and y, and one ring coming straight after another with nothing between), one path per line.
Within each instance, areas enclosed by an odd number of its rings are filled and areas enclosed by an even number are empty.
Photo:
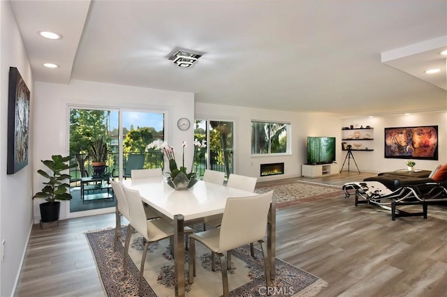
M51 155L68 155L68 105L89 107L151 109L166 112L165 133L168 143L175 150L182 151L182 142L188 142L185 150L185 163L191 164L193 155L193 129L180 131L176 128L177 119L194 119L193 93L163 91L156 89L101 84L72 80L70 84L50 84L36 82L34 109L34 167L43 168L41 160ZM34 192L42 188L43 178L34 174ZM35 222L40 220L34 202ZM60 219L68 218L68 204L61 205Z

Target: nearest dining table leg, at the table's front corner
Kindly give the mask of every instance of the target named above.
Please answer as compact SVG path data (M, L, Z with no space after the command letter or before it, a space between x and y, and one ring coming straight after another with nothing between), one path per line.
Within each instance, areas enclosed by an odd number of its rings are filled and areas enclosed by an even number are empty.
M184 297L184 216L174 215L175 296Z

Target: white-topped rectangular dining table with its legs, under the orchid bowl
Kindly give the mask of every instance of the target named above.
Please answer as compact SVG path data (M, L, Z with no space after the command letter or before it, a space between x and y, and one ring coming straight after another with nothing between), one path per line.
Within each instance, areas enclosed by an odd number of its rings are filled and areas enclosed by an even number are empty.
M188 190L174 190L163 178L138 178L124 180L126 188L138 190L143 202L174 226L175 296L184 296L184 226L222 217L228 197L256 195L236 188L198 181ZM268 218L267 254L270 279L275 276L275 201L272 199ZM247 212L250 210L247 209Z

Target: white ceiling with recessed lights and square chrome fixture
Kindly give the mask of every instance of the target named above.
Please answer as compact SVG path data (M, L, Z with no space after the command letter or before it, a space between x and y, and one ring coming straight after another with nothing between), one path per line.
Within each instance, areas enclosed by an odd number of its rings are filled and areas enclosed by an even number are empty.
M186 91L196 102L340 116L447 109L444 0L11 5L37 81ZM36 33L43 29L63 38L45 40ZM182 69L166 58L175 47L205 54ZM441 73L423 73L432 66Z

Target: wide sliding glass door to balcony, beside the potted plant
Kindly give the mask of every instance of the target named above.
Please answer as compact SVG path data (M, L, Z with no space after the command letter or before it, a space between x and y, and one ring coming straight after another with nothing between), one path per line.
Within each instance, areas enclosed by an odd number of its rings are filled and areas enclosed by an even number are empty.
M161 151L146 151L147 144L163 140L164 113L131 109L69 109L69 146L72 162L70 212L115 206L110 178L131 178L131 169L163 167ZM107 145L105 171L94 167L91 144L102 139Z

